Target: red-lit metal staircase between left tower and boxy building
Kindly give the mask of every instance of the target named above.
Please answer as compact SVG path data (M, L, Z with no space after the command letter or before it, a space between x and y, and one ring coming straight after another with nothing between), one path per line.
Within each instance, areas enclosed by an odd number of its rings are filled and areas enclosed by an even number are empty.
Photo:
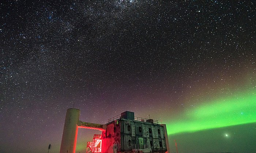
M101 153L101 134L93 135L93 142L87 142L86 153Z

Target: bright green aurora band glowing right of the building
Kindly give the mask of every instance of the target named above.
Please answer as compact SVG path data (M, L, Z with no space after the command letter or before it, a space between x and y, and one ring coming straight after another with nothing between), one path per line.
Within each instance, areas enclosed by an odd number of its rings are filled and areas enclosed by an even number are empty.
M255 90L232 94L231 97L215 99L194 109L182 112L176 120L167 122L169 135L197 132L233 125L256 122Z

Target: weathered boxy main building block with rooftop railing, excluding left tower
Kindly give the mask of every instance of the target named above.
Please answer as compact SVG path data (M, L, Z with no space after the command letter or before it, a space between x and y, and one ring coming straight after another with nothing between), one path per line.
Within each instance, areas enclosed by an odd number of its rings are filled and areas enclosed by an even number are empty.
M113 121L112 121L113 120ZM121 117L110 119L102 132L102 153L167 151L164 127L153 119L134 117L126 111Z

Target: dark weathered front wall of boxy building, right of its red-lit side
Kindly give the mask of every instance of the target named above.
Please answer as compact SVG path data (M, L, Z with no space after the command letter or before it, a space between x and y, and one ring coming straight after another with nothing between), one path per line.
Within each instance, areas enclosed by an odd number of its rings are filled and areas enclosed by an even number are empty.
M142 149L146 148L146 146L151 148L152 153L166 152L167 146L165 142L165 133L161 125L149 122L121 119L120 127L121 149L118 149L118 153L130 152L132 149Z

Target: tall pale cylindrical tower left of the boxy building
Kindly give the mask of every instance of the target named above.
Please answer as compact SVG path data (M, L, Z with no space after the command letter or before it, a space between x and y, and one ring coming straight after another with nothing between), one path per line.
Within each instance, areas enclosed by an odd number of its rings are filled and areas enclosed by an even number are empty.
M65 118L60 153L75 153L80 110L68 109Z

